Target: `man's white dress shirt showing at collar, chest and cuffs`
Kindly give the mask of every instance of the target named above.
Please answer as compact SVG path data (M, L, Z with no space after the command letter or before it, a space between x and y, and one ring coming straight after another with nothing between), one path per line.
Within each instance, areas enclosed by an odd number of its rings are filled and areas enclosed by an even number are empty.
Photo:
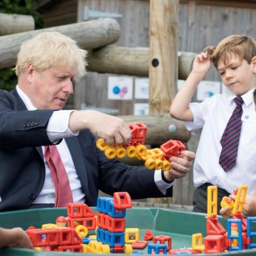
M37 108L35 108L29 97L27 97L27 95L24 93L24 91L22 91L22 89L19 88L18 85L16 86L16 89L20 98L22 101L24 101L27 110L36 110ZM47 135L51 142L54 143L61 138L68 138L70 136L78 135L78 133L72 133L68 127L69 116L72 111L74 110L59 110L53 112L46 128ZM86 195L84 194L81 182L76 173L76 169L74 168L71 153L69 152L69 148L67 147L65 139L63 139L61 143L57 144L56 146L61 157L61 161L69 177L73 200L74 202L84 202ZM44 152L44 146L42 146L42 152ZM52 180L50 168L48 167L45 158L44 165L46 170L44 185L42 187L42 191L40 191L39 196L33 201L34 204L49 204L54 203L55 200L54 182ZM155 185L163 193L163 195L165 195L167 189L174 184L174 182L167 184L162 180L161 170L155 170L154 181Z

